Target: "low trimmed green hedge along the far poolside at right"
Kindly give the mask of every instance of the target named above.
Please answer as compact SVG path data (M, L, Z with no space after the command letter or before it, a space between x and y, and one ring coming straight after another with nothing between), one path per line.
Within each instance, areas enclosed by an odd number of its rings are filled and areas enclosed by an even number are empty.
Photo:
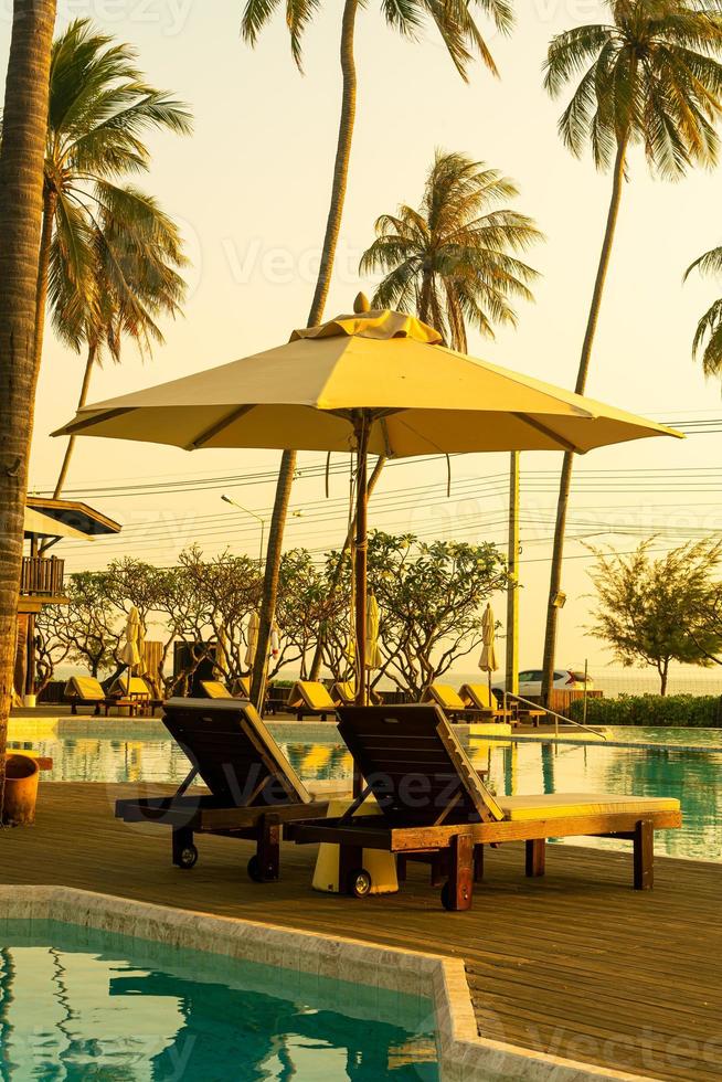
M582 721L584 703L575 699L569 709L574 721ZM618 699L588 699L590 725L660 725L678 729L722 728L720 696L619 696Z

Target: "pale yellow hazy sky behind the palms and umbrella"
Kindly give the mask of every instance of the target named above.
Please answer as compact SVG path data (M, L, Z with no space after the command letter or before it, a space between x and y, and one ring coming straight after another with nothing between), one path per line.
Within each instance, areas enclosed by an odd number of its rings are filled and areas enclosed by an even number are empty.
M0 0L4 68L11 0ZM304 326L326 222L340 104L340 0L322 4L306 36L304 74L295 67L283 13L255 49L240 35L235 0L59 0L59 28L92 18L131 42L148 78L188 102L190 138L150 139L152 168L142 178L182 225L192 266L184 316L163 326L164 344L145 363L131 346L121 365L94 375L91 401L221 364L286 341ZM373 223L400 202L418 201L436 148L461 151L512 177L514 205L531 215L545 243L529 255L542 277L535 304L519 311L517 330L495 341L471 333L470 352L563 386L574 383L609 197L609 178L562 146L556 120L564 102L542 88L550 39L581 22L605 20L599 0L523 0L505 39L488 23L500 70L476 63L465 84L433 28L410 42L389 30L370 3L358 17L359 99L339 254L327 316L349 310L361 280L358 263ZM697 320L722 283L683 272L722 243L719 172L696 171L679 183L650 178L634 151L619 219L587 392L658 421L691 424L689 438L649 439L598 450L577 463L570 511L558 662L609 661L586 633L592 583L586 543L619 551L641 537L655 547L719 532L722 507L720 436L697 423L722 417L720 385L705 382L691 358ZM50 433L68 421L82 359L46 338L38 391L31 491L52 489L63 441ZM712 428L715 426L712 425ZM720 427L719 425L716 426ZM348 475L323 478L318 455L300 457L288 545L319 555L338 544L348 516ZM201 450L79 439L66 495L123 522L118 538L93 545L65 542L68 570L102 567L137 555L168 565L194 540L209 554L230 548L256 555L255 518L221 502L227 492L269 517L276 452ZM521 485L522 668L541 661L550 539L561 456L527 454ZM340 459L339 459L340 468ZM400 463L386 469L371 506L371 524L413 531L424 540L458 538L506 544L508 457L474 455L446 464ZM249 476L253 475L253 476ZM145 486L139 492L138 489ZM172 488L169 490L169 486ZM192 491L183 491L192 487ZM580 540L580 538L583 540ZM503 598L497 598L503 618Z

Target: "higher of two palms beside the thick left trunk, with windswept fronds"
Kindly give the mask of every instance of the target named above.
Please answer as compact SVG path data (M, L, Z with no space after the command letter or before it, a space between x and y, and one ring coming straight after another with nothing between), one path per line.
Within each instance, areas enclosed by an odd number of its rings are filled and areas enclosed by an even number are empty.
M53 245L78 297L92 295L97 231L113 219L155 240L147 197L118 184L147 170L142 137L157 129L185 135L188 107L145 82L135 50L78 19L53 43L45 150L43 230L38 267L35 349L42 357Z

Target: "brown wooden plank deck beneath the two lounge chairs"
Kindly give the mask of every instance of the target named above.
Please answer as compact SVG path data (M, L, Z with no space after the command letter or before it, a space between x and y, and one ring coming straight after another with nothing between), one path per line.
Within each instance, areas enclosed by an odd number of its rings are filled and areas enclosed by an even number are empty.
M156 789L158 791L158 789ZM314 850L285 847L283 880L245 874L248 842L201 837L192 871L168 831L115 820L127 785L43 783L33 829L0 834L6 883L62 883L460 956L484 1035L656 1079L722 1074L722 868L659 859L651 893L626 855L553 846L545 879L523 848L487 856L474 910L446 913L426 870L393 897L310 890Z

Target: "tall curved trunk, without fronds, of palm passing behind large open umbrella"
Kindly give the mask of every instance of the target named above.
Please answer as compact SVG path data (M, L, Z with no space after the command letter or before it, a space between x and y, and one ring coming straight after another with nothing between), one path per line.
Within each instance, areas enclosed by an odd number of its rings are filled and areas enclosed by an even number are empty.
M339 123L336 163L333 167L331 202L326 223L323 248L321 252L321 265L319 267L318 279L316 282L316 290L314 293L311 310L308 315L309 327L315 327L317 323L319 323L323 316L326 298L328 297L329 286L331 284L331 273L333 270L336 248L341 229L341 219L343 216L343 203L346 200L346 189L349 176L349 161L351 158L351 144L353 140L353 123L355 119L357 75L355 60L353 56L353 38L358 7L359 0L346 0L346 4L343 7L343 20L341 24L341 74L343 78L341 119ZM268 644L270 641L270 628L273 626L274 613L276 611L278 576L280 573L280 556L284 545L284 531L286 528L286 516L288 513L288 503L290 500L290 490L294 482L295 471L296 452L285 450L280 459L280 469L278 471L278 481L276 484L276 497L274 500L270 530L268 532L266 569L263 583L263 602L258 627L258 646L256 649L256 659L253 668L253 683L251 688L252 701L256 703L258 710L261 710L263 707Z

